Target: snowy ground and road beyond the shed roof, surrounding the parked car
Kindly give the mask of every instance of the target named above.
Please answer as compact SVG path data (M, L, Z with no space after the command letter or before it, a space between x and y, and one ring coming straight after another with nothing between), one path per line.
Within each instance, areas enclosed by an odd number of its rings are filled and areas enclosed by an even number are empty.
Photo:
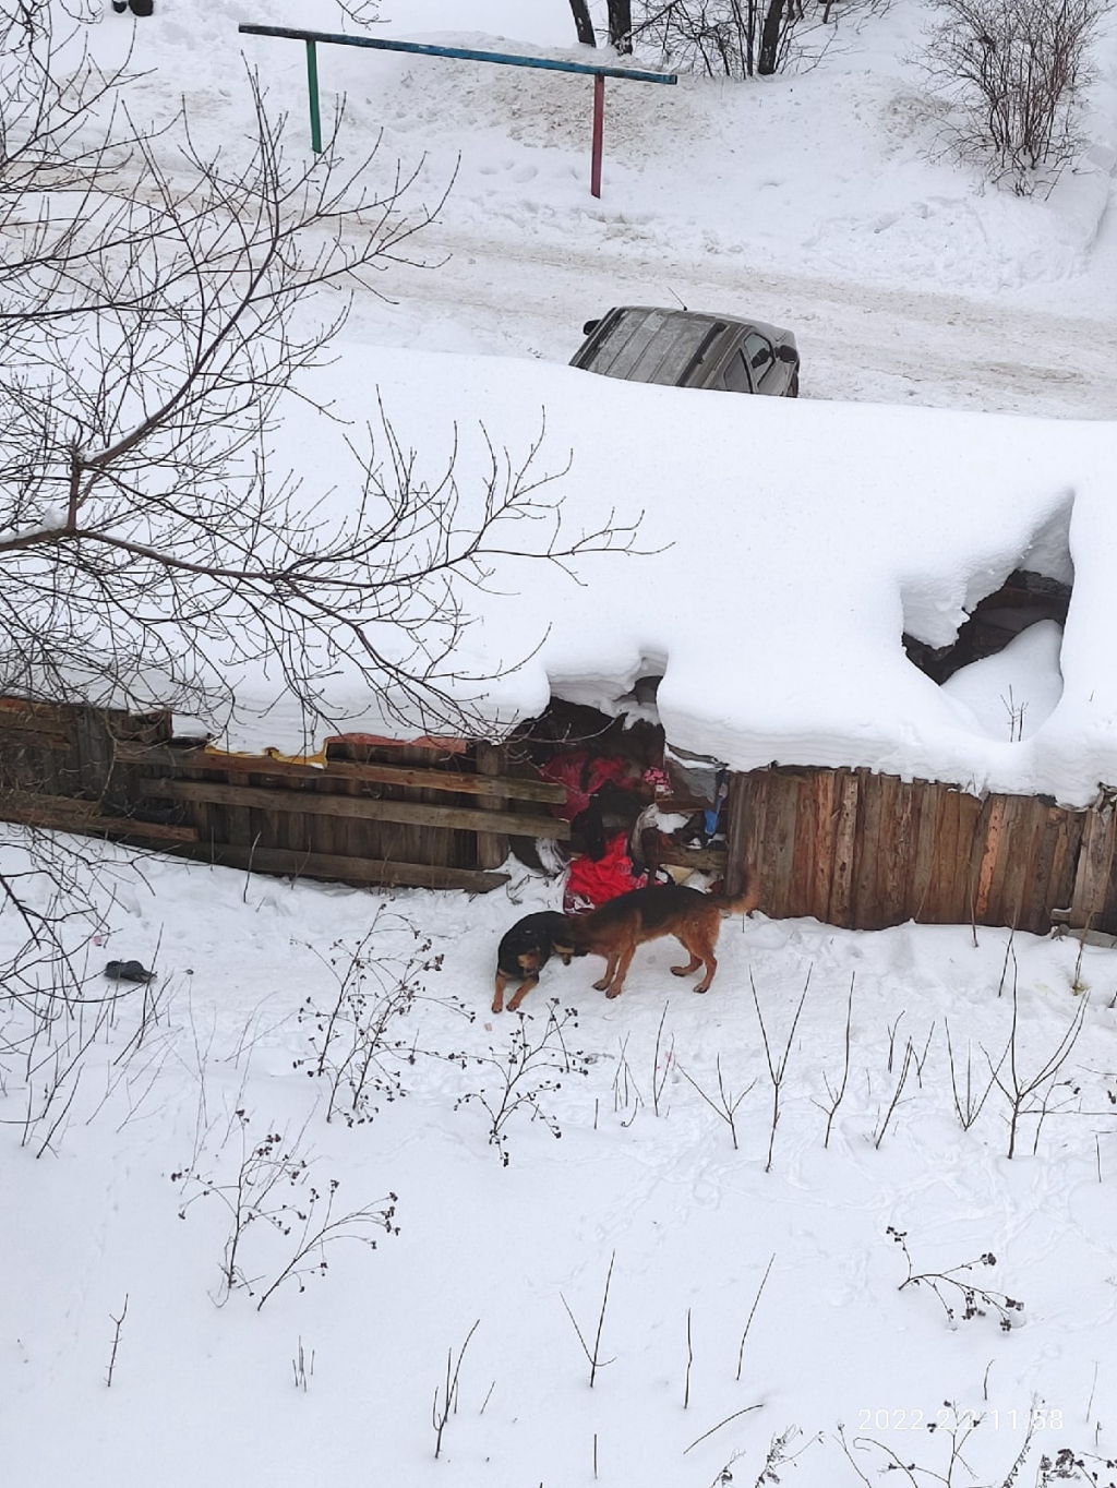
M382 36L586 60L564 0L381 10ZM1049 199L1020 201L944 156L913 61L925 19L903 0L839 31L812 71L748 86L608 83L601 201L589 79L321 48L324 107L345 97L353 155L382 131L387 159L424 162L428 199L455 182L425 235L437 272L402 268L391 302L366 298L353 327L376 344L565 362L589 315L681 299L791 326L808 397L1111 417L1113 182L1080 159ZM244 86L239 22L341 25L332 0L312 19L296 0L183 0L135 28L153 107L174 101L168 70L187 76L195 126L219 137ZM98 45L131 34L110 16ZM302 131L302 48L242 40ZM1101 49L1084 121L1102 158L1117 147L1114 55Z

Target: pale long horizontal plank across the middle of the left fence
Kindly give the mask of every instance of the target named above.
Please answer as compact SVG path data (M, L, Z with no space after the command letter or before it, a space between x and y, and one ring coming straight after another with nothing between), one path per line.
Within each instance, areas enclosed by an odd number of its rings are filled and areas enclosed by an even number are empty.
M428 806L418 801L372 801L361 796L320 796L309 790L266 790L256 786L220 786L208 780L141 778L144 796L161 801L204 801L223 806L259 806L262 811L297 811L309 817L354 817L397 821L403 826L461 827L483 832L492 821L466 806ZM518 836L568 838L570 823L559 817L509 815L504 823Z

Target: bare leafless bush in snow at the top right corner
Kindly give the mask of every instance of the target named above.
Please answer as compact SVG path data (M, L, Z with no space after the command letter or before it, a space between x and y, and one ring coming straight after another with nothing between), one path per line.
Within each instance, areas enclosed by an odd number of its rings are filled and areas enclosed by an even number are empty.
M1020 195L1081 147L1090 45L1111 0L934 0L925 67L956 107L955 147Z

